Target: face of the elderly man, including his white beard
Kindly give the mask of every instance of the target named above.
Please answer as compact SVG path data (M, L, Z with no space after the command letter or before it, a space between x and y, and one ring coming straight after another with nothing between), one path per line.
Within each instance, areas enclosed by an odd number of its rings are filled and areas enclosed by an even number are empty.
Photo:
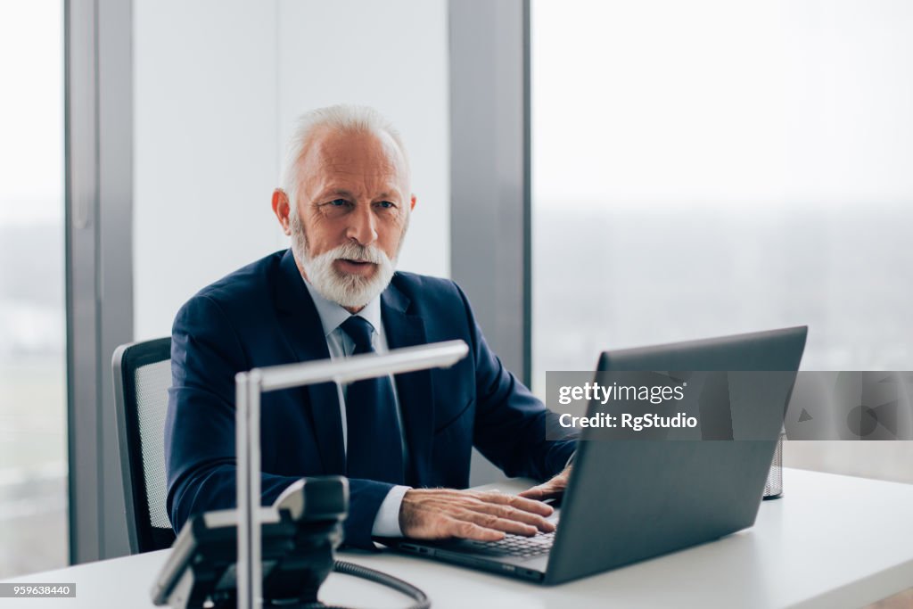
M403 155L386 134L323 130L299 163L295 212L276 195L274 211L311 285L360 309L393 276L415 205Z

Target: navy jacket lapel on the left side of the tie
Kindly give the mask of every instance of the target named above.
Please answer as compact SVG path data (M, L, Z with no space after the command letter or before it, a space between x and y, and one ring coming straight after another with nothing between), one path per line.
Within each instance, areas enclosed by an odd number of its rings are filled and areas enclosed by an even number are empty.
M278 320L285 331L289 347L299 362L330 358L320 315L304 285L295 257L289 249L279 264L280 274L276 305ZM345 449L342 446L342 423L339 394L335 383L312 384L302 388L310 397L310 423L317 438L320 461L326 474L345 475Z

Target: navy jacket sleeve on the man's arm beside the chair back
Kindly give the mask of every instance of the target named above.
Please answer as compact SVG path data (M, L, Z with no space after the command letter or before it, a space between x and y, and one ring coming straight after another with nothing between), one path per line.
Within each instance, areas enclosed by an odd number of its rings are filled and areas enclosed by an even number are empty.
M232 323L215 300L191 299L174 320L172 381L164 425L167 510L175 531L192 515L236 506L235 374L251 368ZM270 505L300 477L263 472ZM350 478L349 545L373 548L378 509L393 485Z

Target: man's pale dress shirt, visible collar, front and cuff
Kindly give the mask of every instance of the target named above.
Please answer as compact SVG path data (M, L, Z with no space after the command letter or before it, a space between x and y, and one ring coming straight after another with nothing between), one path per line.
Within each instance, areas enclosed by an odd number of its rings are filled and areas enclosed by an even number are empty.
M331 300L320 296L320 292L310 285L310 281L304 280L304 285L310 292L310 298L314 300L314 306L317 308L317 314L320 316L320 323L323 326L323 335L327 340L327 348L330 350L330 359L337 360L349 357L355 351L355 343L346 331L340 328L340 324L348 320L352 313L343 309L340 305ZM378 353L387 352L386 335L383 331L383 320L381 319L381 297L374 297L364 309L356 313L359 317L367 320L374 328L371 335L371 342L374 351ZM396 395L396 383L393 376L390 377L390 383L394 389L394 404L396 406L396 417L399 425L400 443L403 446L403 462L408 463L408 446L405 443L403 432L403 414L400 411L399 397ZM346 454L349 452L349 433L346 429L346 412L345 396L347 387L337 384L336 390L340 401L340 417L342 422L342 446ZM315 407L319 407L316 406ZM377 510L377 516L374 518L371 533L379 537L402 537L403 530L399 526L399 511L403 503L405 492L412 487L397 485L390 489L387 496L381 503L381 508Z

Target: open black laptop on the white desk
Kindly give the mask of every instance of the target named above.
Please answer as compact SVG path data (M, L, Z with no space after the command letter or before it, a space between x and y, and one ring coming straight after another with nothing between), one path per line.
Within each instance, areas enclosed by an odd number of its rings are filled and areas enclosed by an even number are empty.
M597 367L603 373L783 374L773 375L781 386L757 394L742 391L732 400L733 420L747 417L758 430L750 440L603 441L594 437L594 429L584 428L568 488L550 517L557 524L552 533L508 534L501 541L377 541L425 558L551 585L746 529L761 505L806 334L803 326L603 352ZM600 409L605 406L593 401L587 415Z

